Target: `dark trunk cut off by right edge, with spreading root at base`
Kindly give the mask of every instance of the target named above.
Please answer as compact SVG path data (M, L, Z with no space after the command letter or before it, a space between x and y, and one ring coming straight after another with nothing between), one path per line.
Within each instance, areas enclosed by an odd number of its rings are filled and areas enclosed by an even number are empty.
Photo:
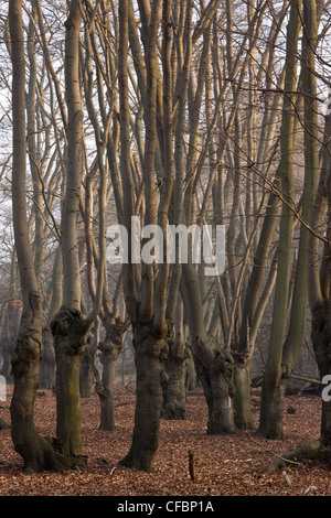
M319 114L317 97L316 60L319 58L317 48L318 20L322 12L319 2L303 0L303 45L302 45L302 67L303 83L302 94L305 95L305 117L302 125L305 128L305 165L307 180L310 179L316 188L311 198L309 191L309 202L311 219L309 227L309 262L308 262L308 300L311 311L311 341L314 357L318 364L321 385L330 384L330 134L331 118L330 112L325 116L323 138L319 134ZM320 76L321 77L321 76ZM311 203L312 202L312 203ZM305 222L307 223L307 222ZM327 378L324 378L327 377ZM320 435L311 442L299 445L286 452L281 460L275 464L284 465L286 460L313 458L316 454L320 458L320 453L331 445L331 407L330 387L325 393L322 392L322 412Z

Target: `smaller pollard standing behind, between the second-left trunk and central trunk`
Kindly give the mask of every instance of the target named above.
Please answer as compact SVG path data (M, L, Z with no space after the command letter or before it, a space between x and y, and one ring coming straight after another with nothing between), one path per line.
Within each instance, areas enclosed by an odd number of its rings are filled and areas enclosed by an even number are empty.
M85 236L86 236L86 259L87 259L87 283L89 294L93 300L96 296L94 265L98 262L98 250L94 239L93 222L97 220L99 215L94 214L94 203L97 193L93 191L93 184L98 182L98 172L102 176L108 177L108 168L110 169L109 183L107 188L107 202L110 195L115 193L115 198L121 198L118 193L120 183L116 181L117 176L117 136L118 136L118 99L114 85L117 80L117 46L115 48L109 45L109 33L115 26L116 21L111 21L109 13L110 4L103 1L95 8L89 6L89 12L85 12L85 74L84 74L84 94L89 121L92 123L95 137L96 157L92 163L85 177ZM111 24L113 22L113 24ZM96 66L94 67L94 64ZM108 96L109 106L105 102ZM108 145L107 145L108 143ZM108 155L105 151L111 149ZM104 158L105 155L105 158ZM108 165L109 161L109 165ZM105 185L105 188L107 186ZM120 215L118 215L121 222ZM117 277L115 287L115 296L113 303L109 301L107 287L107 276L103 290L103 304L99 311L99 319L105 330L105 337L98 343L97 349L100 363L103 365L103 374L98 371L92 364L92 368L96 376L96 392L100 398L100 424L102 430L114 430L114 384L115 384L115 365L119 354L122 352L122 339L129 321L124 323L124 315L120 311L119 301L122 293L122 274L116 273L116 267L111 272L111 277ZM94 358L90 358L94 360Z

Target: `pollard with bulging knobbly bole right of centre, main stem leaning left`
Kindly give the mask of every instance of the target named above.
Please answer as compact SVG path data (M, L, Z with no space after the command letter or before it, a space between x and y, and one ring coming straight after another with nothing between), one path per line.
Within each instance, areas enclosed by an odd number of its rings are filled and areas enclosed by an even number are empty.
M190 8L189 8L190 9ZM196 32L186 35L186 45L190 39L193 41L196 37ZM197 153L197 145L200 143L200 112L203 101L203 91L205 85L205 76L209 68L209 55L211 51L211 20L209 17L204 20L202 51L199 60L199 72L196 74L196 82L192 68L191 85L188 94L189 98L189 136L190 145L188 150L188 158L184 161L184 196L178 202L174 207L174 220L177 224L185 224L188 227L194 224L196 215L196 191L197 183L201 175L201 157ZM192 64L189 63L191 67ZM222 99L220 96L218 102ZM185 100L185 99L184 99ZM215 114L217 110L215 110ZM233 108L233 114L235 108ZM231 125L231 122L229 122ZM209 128L209 131L211 129ZM180 138L181 136L179 136ZM225 152L225 148L223 149ZM182 155L178 154L180 160ZM181 171L181 164L178 162L177 168ZM210 173L213 177L213 171ZM207 195L206 195L207 197ZM203 204L202 204L203 205ZM203 212L203 208L201 209ZM204 216L199 215L197 223L204 222ZM181 217L181 219L178 219ZM204 322L204 311L202 304L202 295L200 291L200 282L196 269L192 262L192 255L190 255L188 262L182 265L181 277L181 294L183 298L185 316L190 328L192 355L195 363L195 369L202 382L206 402L209 406L209 421L207 433L222 434L233 433L235 431L234 413L232 404L232 375L233 375L233 360L227 349L222 347L213 347L210 337L207 336L207 328Z

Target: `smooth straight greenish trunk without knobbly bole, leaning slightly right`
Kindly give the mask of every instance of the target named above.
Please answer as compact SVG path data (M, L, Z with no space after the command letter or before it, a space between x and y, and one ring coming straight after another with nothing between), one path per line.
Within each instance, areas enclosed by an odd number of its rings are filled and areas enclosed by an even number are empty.
M287 26L287 54L282 128L280 136L280 171L281 190L287 199L295 199L295 109L297 85L297 56L296 48L301 29L302 0L295 0L290 8L290 18ZM292 202L291 202L292 203ZM284 343L289 311L289 293L291 278L293 212L290 205L282 204L279 230L278 269L275 288L275 303L270 344L266 370L264 375L260 425L258 434L268 439L282 438L282 408L284 382L286 382L286 366L284 365ZM275 413L277 411L277 414Z

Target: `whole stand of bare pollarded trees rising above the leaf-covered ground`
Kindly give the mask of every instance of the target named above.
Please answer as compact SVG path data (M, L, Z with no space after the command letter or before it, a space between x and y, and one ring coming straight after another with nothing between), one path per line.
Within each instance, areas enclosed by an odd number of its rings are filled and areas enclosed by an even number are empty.
M284 439L289 387L321 388L330 21L327 0L0 2L1 374L25 473L86 468L82 398L96 391L113 431L116 366L136 396L119 464L138 471L196 384L207 435L266 440ZM130 238L132 216L164 250L169 223L224 225L224 272L107 263L107 228ZM55 436L35 428L40 388ZM329 450L321 406L319 438L289 460Z

